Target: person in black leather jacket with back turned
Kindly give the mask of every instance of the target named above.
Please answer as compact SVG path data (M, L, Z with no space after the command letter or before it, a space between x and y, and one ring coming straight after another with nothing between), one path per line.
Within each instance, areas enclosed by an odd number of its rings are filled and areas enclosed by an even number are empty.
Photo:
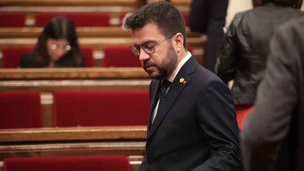
M225 83L234 80L231 91L236 105L253 105L275 28L304 15L299 10L302 0L253 0L253 5L254 9L234 17L215 66Z

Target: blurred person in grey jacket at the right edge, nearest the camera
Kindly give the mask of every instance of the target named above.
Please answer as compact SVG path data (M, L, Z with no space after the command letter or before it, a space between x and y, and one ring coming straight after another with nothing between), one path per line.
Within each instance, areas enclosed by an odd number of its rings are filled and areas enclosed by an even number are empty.
M255 109L244 121L246 171L304 170L304 17L276 30Z

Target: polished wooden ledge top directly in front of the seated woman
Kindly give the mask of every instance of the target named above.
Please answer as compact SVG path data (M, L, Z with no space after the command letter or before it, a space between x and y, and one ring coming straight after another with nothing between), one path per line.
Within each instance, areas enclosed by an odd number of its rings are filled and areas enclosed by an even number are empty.
M16 79L149 79L143 68L0 69L0 80Z

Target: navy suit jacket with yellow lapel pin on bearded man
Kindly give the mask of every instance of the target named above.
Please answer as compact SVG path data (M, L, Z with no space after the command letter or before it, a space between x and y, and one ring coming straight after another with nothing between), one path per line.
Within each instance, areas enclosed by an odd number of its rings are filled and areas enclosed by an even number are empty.
M139 170L241 168L234 102L218 76L192 56L176 75L151 124L159 89L160 81L152 80L146 155Z

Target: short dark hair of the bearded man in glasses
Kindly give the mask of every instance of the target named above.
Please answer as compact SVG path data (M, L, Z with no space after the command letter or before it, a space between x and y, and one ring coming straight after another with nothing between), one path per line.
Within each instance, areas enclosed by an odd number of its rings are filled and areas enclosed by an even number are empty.
M181 33L184 36L184 47L187 50L185 20L174 5L166 1L159 1L142 6L126 19L125 27L135 30L150 23L155 24L164 37Z

